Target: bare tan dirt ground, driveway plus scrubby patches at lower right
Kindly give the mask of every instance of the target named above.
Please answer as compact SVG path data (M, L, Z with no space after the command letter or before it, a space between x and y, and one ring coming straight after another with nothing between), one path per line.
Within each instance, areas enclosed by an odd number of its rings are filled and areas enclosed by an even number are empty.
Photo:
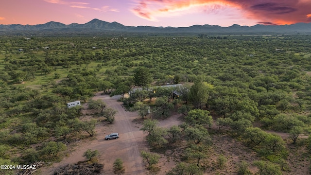
M116 158L121 158L125 168L125 175L150 175L150 172L146 170L145 163L140 157L140 150L148 150L146 141L144 140L145 134L139 131L141 127L140 123L133 122L138 118L136 112L126 112L122 107L121 102L117 102L120 96L110 98L107 95L96 93L94 100L102 99L107 104L107 107L114 108L118 111L115 116L115 122L113 124L101 123L96 126L96 136L93 140L83 140L77 143L77 147L68 157L64 158L59 163L54 163L51 167L41 169L42 175L50 175L60 167L75 164L78 161L84 161L83 153L87 149L98 150L100 152L99 163L104 164L104 175L114 175L112 170L113 161ZM87 104L84 105L84 108ZM88 113L89 110L84 110L83 113L86 115L84 120L91 118ZM160 127L171 127L172 125L178 125L181 123L180 114L173 114L168 119L159 121ZM237 163L242 160L247 161L250 166L249 170L252 173L256 173L258 169L252 165L254 160L259 160L256 152L252 149L245 147L241 142L233 139L230 135L225 133L219 133L218 126L213 124L209 129L210 132L214 132L212 135L213 146L210 152L210 156L207 158L205 164L207 169L205 175L220 174L220 175L236 175L237 174ZM119 132L120 138L118 140L104 140L104 136L111 132ZM275 131L267 131L274 133L288 140L288 134ZM304 136L301 139L305 138ZM287 141L287 147L290 150L289 155L289 166L291 172L283 172L284 175L292 175L298 173L299 175L309 174L310 162L308 157L301 158L300 154L306 152L302 147L295 147ZM165 175L171 170L176 162L180 161L179 157L182 154L184 148L183 143L177 143L174 145L172 150L167 150L165 154L160 154L161 158L158 163L160 168L157 175ZM216 162L219 155L224 155L227 158L227 163L224 169L215 169L213 164Z

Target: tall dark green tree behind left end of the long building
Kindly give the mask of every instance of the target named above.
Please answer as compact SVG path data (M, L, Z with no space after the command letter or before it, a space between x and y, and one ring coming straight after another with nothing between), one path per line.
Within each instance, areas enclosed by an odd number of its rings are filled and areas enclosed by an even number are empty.
M152 77L147 68L139 67L134 71L134 85L147 87L152 82Z

